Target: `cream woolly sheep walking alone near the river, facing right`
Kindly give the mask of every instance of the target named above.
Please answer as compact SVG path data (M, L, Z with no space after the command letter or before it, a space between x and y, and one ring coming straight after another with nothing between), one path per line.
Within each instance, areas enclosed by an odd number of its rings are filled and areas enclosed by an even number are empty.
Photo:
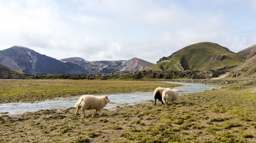
M103 109L103 107L105 107L105 105L108 104L109 102L110 100L108 96L96 97L92 95L82 95L75 104L77 108L75 116L77 115L77 111L80 108L82 108L83 117L86 117L86 113L84 112L84 110L93 110L93 109L96 110L95 113L99 111L100 115L102 115L100 110ZM92 117L95 115L95 113L92 115Z

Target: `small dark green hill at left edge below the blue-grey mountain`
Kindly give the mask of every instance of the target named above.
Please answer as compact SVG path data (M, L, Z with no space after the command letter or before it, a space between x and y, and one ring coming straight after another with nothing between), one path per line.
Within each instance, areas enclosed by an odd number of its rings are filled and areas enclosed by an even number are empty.
M12 70L3 65L0 65L0 79L24 79L27 78L29 74Z

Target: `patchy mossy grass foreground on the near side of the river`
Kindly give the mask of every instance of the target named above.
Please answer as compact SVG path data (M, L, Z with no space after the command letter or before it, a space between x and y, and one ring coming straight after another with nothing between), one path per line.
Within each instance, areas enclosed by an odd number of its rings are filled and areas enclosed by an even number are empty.
M256 142L256 86L248 83L182 95L169 106L152 101L103 110L94 118L93 110L74 117L73 107L2 115L0 142Z

